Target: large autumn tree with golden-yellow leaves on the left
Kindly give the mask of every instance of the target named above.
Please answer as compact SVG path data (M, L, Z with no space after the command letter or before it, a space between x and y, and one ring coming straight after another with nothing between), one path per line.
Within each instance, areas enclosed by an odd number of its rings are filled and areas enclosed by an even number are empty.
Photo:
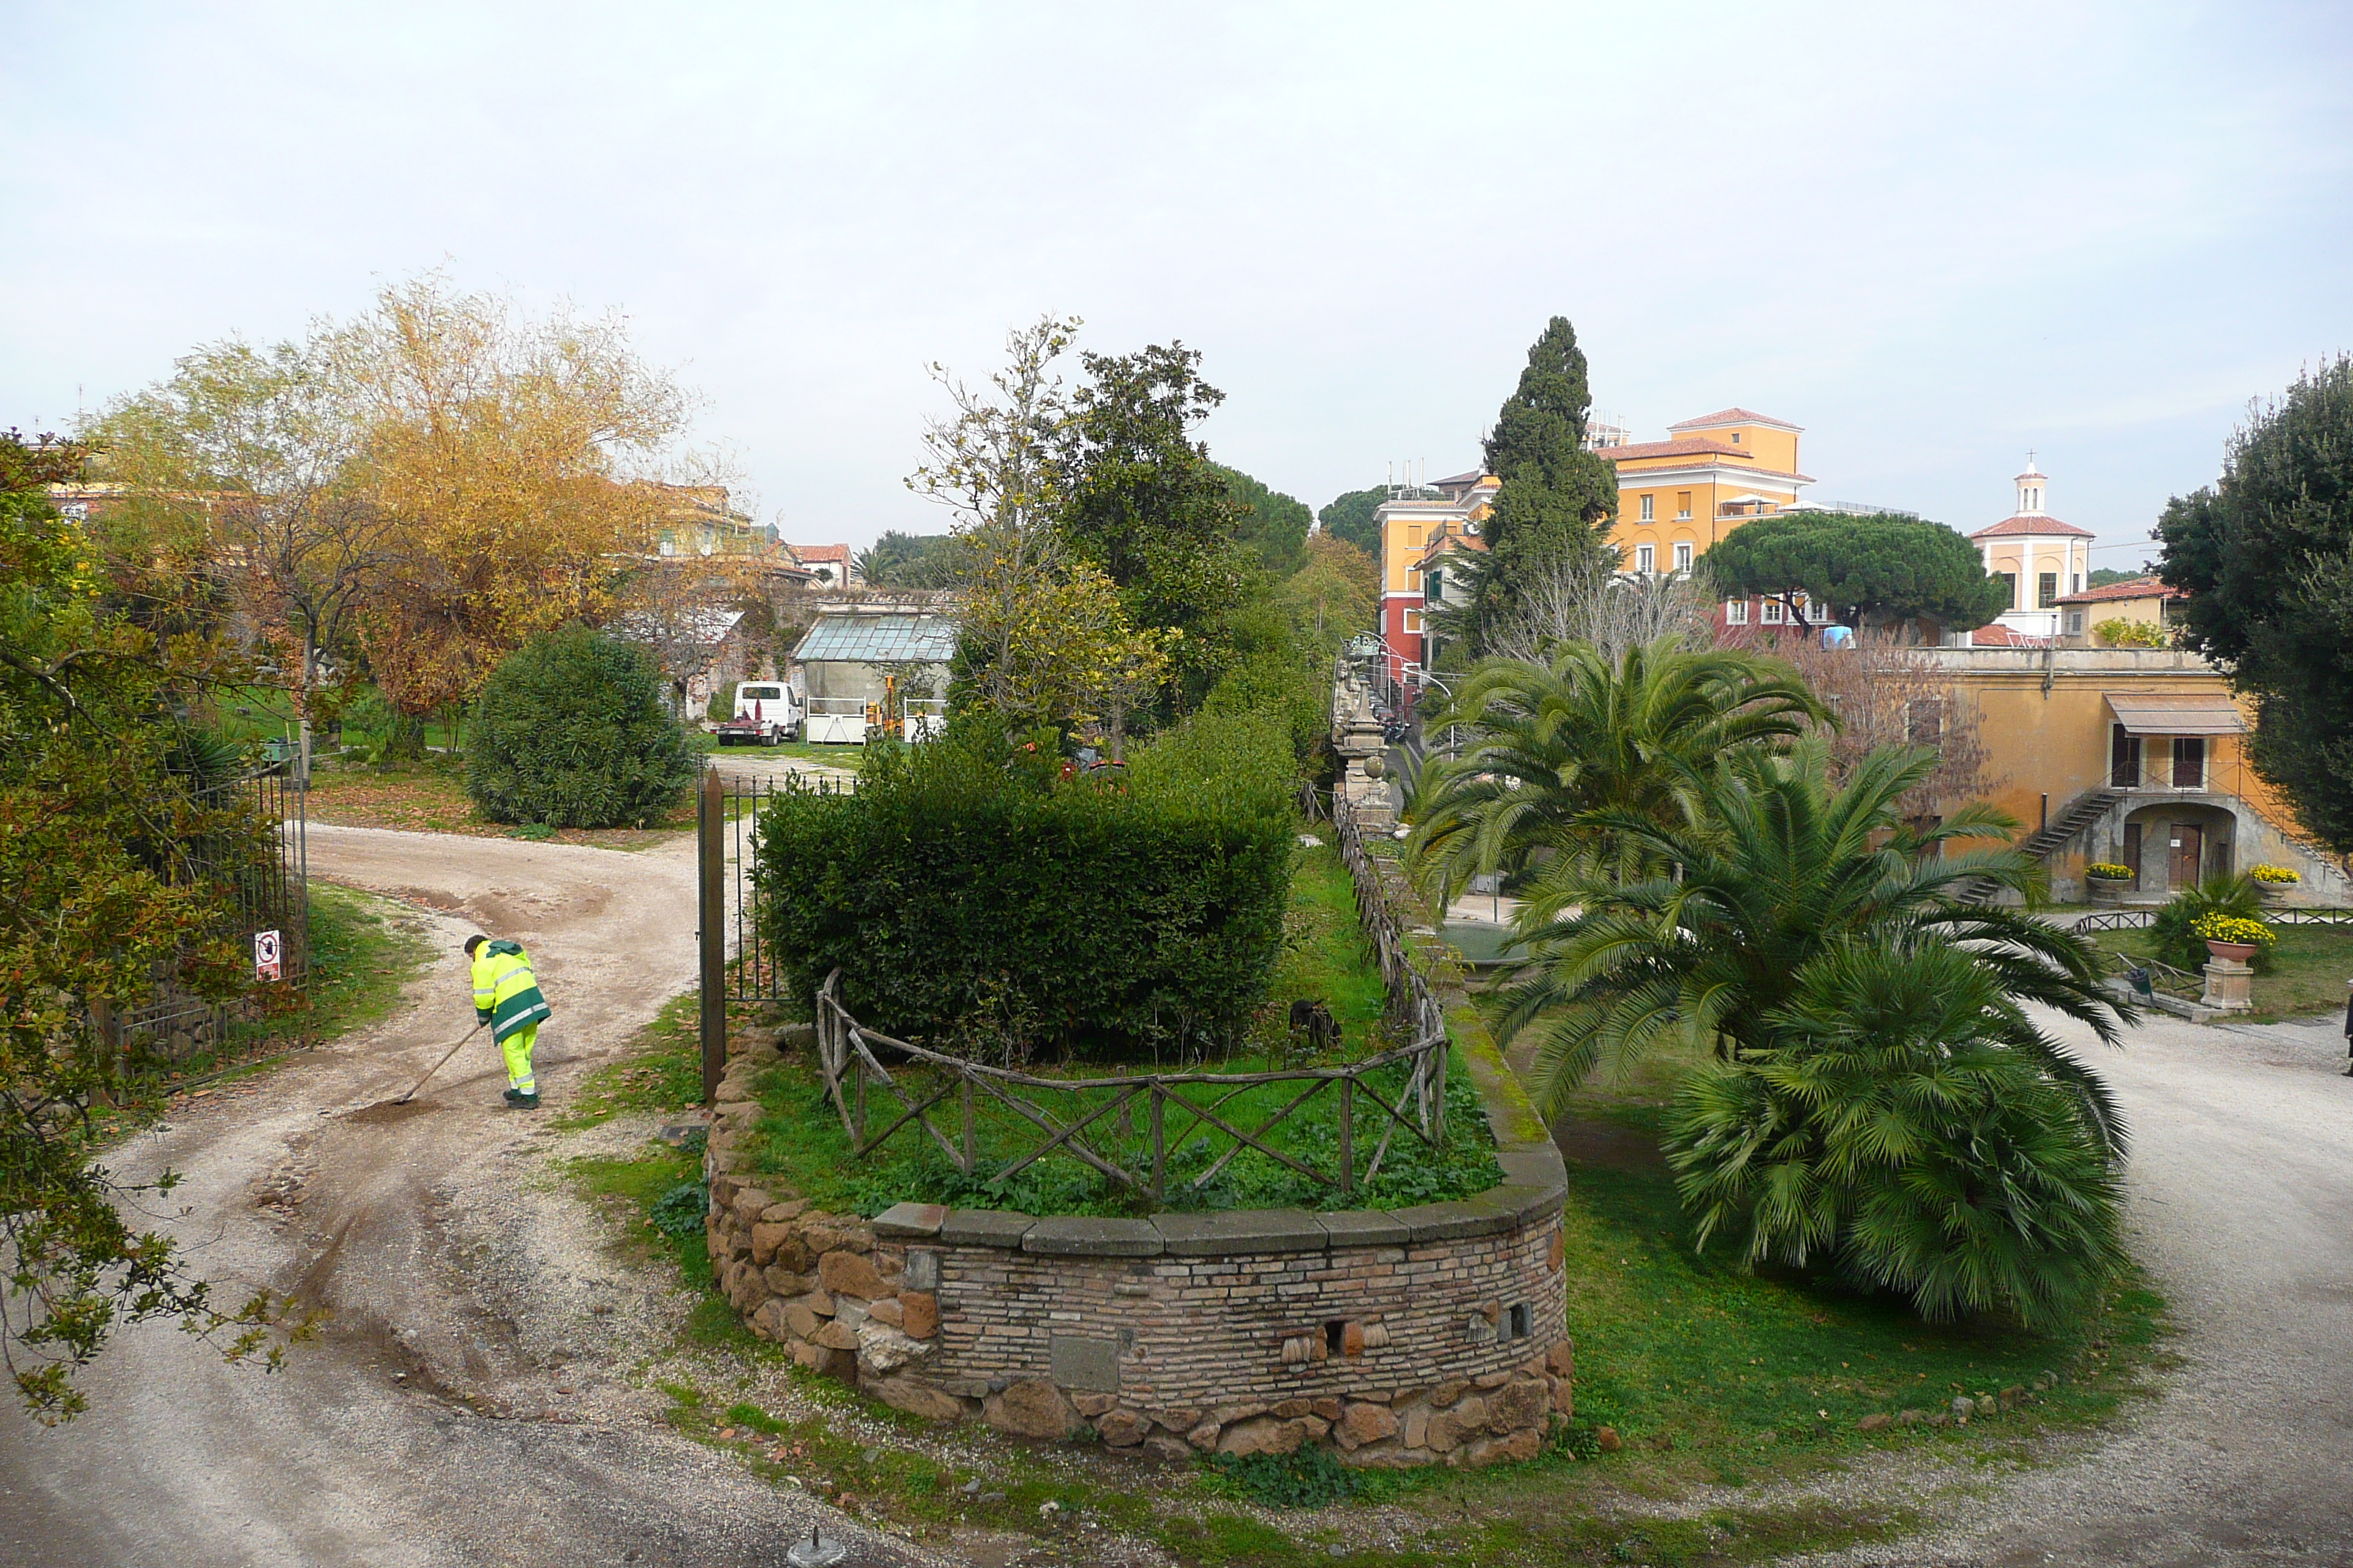
M532 632L614 616L687 414L621 317L428 273L301 341L198 348L92 437L118 545L198 555L304 719L365 654L414 745Z

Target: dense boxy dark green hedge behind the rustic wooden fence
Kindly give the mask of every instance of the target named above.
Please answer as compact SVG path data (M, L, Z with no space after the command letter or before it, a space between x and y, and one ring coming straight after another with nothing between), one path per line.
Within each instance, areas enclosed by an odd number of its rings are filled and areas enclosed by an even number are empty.
M760 823L760 924L793 990L842 971L864 1023L995 1060L1238 1041L1282 947L1289 745L1195 719L1125 776L1052 743L873 745L854 795Z

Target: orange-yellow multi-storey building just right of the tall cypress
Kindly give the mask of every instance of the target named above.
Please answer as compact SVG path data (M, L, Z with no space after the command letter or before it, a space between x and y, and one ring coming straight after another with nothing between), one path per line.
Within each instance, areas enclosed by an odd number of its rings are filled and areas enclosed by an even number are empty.
M1619 470L1609 543L1626 571L1689 571L1718 538L1798 505L1814 482L1798 470L1805 430L1786 418L1720 409L1666 430L1664 442L1598 447Z

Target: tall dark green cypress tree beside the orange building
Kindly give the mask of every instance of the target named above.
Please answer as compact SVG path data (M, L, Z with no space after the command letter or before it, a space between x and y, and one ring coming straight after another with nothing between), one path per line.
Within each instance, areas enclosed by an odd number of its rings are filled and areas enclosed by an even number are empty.
M1586 355L1569 317L1555 315L1527 350L1520 386L1487 435L1487 473L1504 482L1482 524L1487 557L1471 564L1471 602L1449 616L1473 654L1487 630L1518 614L1522 585L1562 567L1614 564L1607 529L1617 512L1617 465L1586 451Z

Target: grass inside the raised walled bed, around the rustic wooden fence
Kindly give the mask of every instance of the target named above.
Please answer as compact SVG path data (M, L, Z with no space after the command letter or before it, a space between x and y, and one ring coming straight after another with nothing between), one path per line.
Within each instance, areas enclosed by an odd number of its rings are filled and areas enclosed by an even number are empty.
M1271 1001L1259 1011L1252 1027L1249 1048L1235 1058L1202 1063L1209 1072L1264 1072L1278 1067L1327 1065L1294 1046L1289 1039L1287 1011L1292 999L1322 999L1341 1025L1341 1051L1329 1058L1353 1060L1391 1048L1381 1016L1381 971L1372 947L1365 943L1355 893L1339 851L1327 846L1299 851L1292 877L1292 903L1285 912L1282 957L1275 966ZM1040 1077L1113 1077L1141 1072L1144 1065L1075 1063L1068 1067L1031 1065ZM915 1100L944 1086L927 1070L915 1065L894 1067L894 1077L908 1086ZM1388 1100L1402 1093L1405 1070L1386 1070L1377 1081L1388 1086ZM762 1147L758 1168L776 1173L809 1201L856 1213L880 1213L899 1201L965 1204L974 1208L1021 1208L1026 1213L1087 1213L1120 1215L1148 1213L1153 1204L1129 1194L1118 1182L1099 1175L1089 1166L1066 1154L1052 1154L1002 1185L988 1175L1045 1143L1035 1124L1007 1110L988 1095L974 1103L974 1145L981 1175L962 1175L953 1161L934 1145L922 1128L908 1124L866 1159L852 1159L849 1135L840 1114L824 1095L824 1079L814 1060L788 1058L781 1067L762 1074L760 1103L765 1114L758 1124ZM1184 1091L1198 1105L1214 1105L1217 1114L1245 1131L1257 1131L1292 1098L1301 1093L1299 1081L1261 1084L1217 1103L1214 1093L1195 1086ZM1031 1091L1033 1103L1045 1105L1059 1121L1094 1112L1113 1100L1111 1091L1073 1093L1068 1098L1045 1098ZM1087 1140L1127 1171L1151 1168L1148 1110L1141 1100L1129 1100L1125 1124L1113 1119L1087 1128ZM880 1131L896 1119L899 1110L882 1093L868 1098L868 1128ZM951 1098L934 1107L934 1124L958 1126L958 1103ZM1181 1143L1200 1128L1200 1138ZM1381 1112L1362 1098L1355 1110L1355 1159L1362 1171L1381 1135ZM1473 1192L1485 1192L1501 1171L1494 1164L1494 1145L1480 1112L1478 1091L1468 1074L1454 1063L1447 1084L1447 1138L1442 1150L1428 1150L1402 1131L1391 1138L1379 1175L1360 1185L1355 1199L1344 1197L1306 1175L1285 1168L1254 1150L1245 1150L1224 1166L1200 1190L1193 1180L1205 1175L1212 1161L1231 1147L1231 1138L1217 1133L1179 1105L1165 1107L1165 1138L1169 1143L1167 1201L1160 1208L1405 1208ZM1266 1143L1304 1159L1320 1171L1339 1166L1339 1093L1325 1091L1294 1112L1278 1128L1266 1133Z

